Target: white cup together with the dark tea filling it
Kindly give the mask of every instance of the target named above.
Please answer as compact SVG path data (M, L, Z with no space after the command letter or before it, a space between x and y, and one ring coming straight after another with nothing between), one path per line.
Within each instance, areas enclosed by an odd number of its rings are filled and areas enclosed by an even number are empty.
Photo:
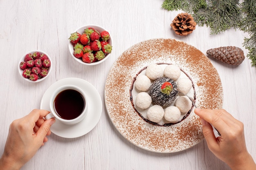
M45 119L55 117L63 124L74 125L87 115L88 99L81 88L74 85L61 86L49 101L50 111Z

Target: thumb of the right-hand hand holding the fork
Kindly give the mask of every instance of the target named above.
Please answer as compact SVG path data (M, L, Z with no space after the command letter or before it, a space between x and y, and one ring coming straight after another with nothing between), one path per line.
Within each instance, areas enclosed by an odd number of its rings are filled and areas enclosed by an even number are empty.
M212 126L204 119L201 119L201 121L202 121L202 126L203 126L204 138L207 142L209 149L212 150L217 146L217 141L216 141L216 137L213 133Z

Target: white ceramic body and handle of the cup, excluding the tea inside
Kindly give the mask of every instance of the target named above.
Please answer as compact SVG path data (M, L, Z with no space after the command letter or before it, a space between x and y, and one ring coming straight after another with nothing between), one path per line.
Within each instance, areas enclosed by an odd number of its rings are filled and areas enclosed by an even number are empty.
M85 103L85 106L84 106L84 109L82 111L82 113L74 118L74 119L63 119L61 118L57 113L56 113L56 110L54 109L54 101L57 97L58 94L60 94L62 91L65 91L65 90L75 90L77 92L79 92L82 96L83 96L83 99L84 99L84 103ZM59 88L57 88L54 93L52 94L51 98L50 98L50 102L49 102L49 105L50 105L50 112L48 115L46 115L45 119L51 119L52 117L55 117L56 119L58 119L59 121L61 121L63 124L67 124L67 125L73 125L73 124L77 124L79 123L80 121L82 121L86 115L87 115L87 108L88 108L88 99L84 93L84 91L77 87L77 86L74 86L74 85L65 85L65 86L61 86ZM70 113L72 114L72 113Z

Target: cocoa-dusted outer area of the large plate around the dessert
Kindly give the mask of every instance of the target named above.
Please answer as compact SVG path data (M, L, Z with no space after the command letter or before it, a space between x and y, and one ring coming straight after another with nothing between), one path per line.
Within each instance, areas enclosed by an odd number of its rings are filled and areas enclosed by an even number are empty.
M152 39L131 46L108 73L105 104L115 128L136 146L161 153L179 152L204 139L200 118L192 110L184 121L168 127L145 122L130 102L133 77L152 63L171 63L189 74L200 108L222 108L222 84L210 60L195 47L173 39Z

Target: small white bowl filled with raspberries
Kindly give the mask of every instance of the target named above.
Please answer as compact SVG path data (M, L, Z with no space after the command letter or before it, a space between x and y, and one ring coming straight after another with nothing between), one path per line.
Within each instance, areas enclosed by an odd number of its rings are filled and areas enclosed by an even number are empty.
M20 59L18 71L28 82L41 82L52 70L52 60L49 55L40 50L29 51Z

